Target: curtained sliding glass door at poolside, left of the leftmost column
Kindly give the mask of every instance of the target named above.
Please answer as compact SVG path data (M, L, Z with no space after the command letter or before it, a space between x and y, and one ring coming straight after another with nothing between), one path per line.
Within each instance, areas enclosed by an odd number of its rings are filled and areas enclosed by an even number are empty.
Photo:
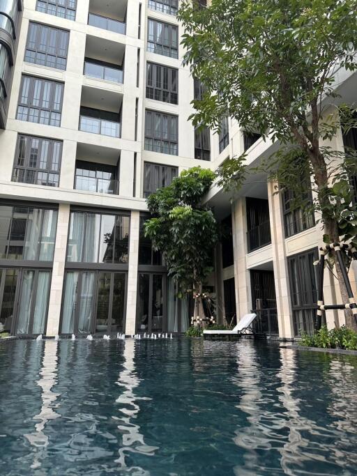
M44 334L50 298L50 270L0 269L0 331Z

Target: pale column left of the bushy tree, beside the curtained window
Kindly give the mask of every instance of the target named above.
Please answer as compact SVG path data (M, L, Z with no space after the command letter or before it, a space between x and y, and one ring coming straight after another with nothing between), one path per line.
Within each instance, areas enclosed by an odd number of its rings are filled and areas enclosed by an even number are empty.
M140 213L132 211L130 219L130 247L128 298L126 302L126 334L135 334L137 314L137 264L139 260Z

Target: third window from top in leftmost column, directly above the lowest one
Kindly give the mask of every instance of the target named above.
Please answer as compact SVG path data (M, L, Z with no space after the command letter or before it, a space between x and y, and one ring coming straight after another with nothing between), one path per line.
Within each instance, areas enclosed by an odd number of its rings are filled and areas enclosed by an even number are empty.
M22 76L16 118L40 124L61 125L63 84Z

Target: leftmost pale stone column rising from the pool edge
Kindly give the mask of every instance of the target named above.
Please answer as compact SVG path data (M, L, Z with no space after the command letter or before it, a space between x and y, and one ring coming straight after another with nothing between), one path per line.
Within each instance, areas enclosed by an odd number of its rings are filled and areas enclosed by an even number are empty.
M47 336L59 333L59 319L61 316L61 302L63 291L63 276L66 263L67 234L70 220L70 206L59 205L59 219L56 230L56 244L54 246L54 260L52 270L52 282L50 291L50 303L47 318Z

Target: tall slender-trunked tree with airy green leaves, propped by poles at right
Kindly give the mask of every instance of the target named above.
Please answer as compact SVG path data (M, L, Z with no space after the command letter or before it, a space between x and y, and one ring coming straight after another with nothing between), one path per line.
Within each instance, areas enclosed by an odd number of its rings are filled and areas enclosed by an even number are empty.
M336 72L357 68L356 11L357 0L212 0L208 8L184 0L179 10L184 62L206 88L193 102L192 122L219 130L228 115L244 130L279 141L264 167L282 189L312 177L312 207L326 243L356 240L357 234L349 181L356 153L323 144L341 126L356 127L346 107L332 108L338 103ZM230 158L220 183L240 187L246 174L245 155ZM338 263L335 272L342 300L349 302ZM351 312L346 321L356 328Z

